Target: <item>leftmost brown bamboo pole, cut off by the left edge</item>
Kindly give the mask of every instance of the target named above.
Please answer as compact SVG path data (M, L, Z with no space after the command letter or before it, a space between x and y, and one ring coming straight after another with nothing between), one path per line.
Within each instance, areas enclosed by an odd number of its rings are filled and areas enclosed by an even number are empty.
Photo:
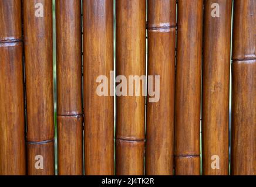
M21 1L0 1L0 175L25 175Z

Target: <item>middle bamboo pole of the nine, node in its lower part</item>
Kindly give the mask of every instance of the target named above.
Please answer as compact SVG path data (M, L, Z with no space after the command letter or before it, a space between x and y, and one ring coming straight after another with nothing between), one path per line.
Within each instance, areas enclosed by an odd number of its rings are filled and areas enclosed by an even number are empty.
M146 1L116 1L116 74L145 75ZM126 87L122 90L125 92ZM116 174L143 175L145 98L117 96ZM128 89L127 89L127 95ZM133 93L134 95L134 93Z

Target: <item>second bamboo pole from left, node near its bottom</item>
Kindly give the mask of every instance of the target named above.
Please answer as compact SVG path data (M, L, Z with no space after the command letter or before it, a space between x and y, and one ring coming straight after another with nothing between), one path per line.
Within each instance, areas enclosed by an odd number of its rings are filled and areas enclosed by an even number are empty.
M23 1L29 175L54 175L52 1Z

